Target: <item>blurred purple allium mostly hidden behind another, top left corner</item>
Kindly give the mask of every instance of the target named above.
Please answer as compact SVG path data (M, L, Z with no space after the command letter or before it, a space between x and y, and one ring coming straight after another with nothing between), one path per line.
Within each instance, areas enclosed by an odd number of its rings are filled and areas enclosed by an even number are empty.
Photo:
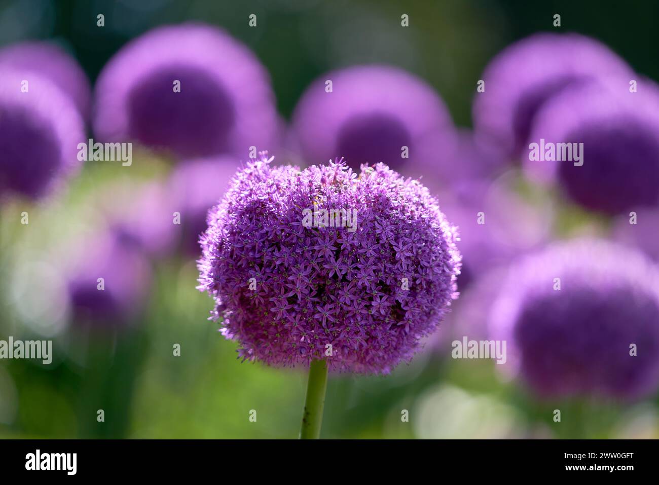
M21 42L0 49L0 67L8 66L29 79L30 72L49 78L88 119L92 89L77 61L57 45L47 42Z

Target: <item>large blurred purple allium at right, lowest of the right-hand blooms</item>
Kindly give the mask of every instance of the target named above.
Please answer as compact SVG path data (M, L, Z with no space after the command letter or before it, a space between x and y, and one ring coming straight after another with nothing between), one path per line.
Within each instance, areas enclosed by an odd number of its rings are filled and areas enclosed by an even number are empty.
M659 270L640 252L607 241L557 243L511 268L490 330L507 341L509 364L540 396L652 392L659 384Z

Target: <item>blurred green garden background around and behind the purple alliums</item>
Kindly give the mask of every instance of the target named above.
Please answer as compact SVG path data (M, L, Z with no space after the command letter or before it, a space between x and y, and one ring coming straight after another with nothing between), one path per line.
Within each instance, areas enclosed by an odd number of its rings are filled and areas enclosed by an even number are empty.
M105 28L96 27L99 13ZM248 26L252 13L258 28ZM400 28L403 13L410 28ZM0 0L0 47L54 40L74 53L94 82L131 38L161 24L200 20L256 52L285 118L316 76L377 62L421 76L444 98L455 124L469 127L486 63L505 45L552 30L555 13L561 30L593 36L641 74L659 79L659 3L650 0ZM206 320L212 301L194 288L194 261L155 266L146 310L121 331L67 329L65 315L47 296L53 288L42 262L57 260L59 248L99 223L98 206L109 187L157 180L171 168L146 154L134 158L129 174L86 164L64 196L29 208L27 226L19 223L24 204L2 208L0 339L45 335L55 341L55 358L50 366L0 361L0 437L297 438L306 376L237 360L235 343ZM180 357L173 355L175 344ZM493 361L451 360L449 343L439 347L391 376L331 376L322 437L659 437L656 398L624 406L539 402L519 384L503 382ZM97 420L99 409L104 422ZM552 420L554 409L561 409L560 423ZM409 422L401 420L404 410Z

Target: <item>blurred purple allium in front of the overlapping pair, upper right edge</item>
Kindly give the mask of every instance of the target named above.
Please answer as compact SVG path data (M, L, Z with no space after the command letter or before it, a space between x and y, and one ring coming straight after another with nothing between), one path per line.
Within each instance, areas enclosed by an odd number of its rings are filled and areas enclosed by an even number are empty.
M526 157L530 173L558 179L564 192L589 210L619 214L655 206L659 202L659 88L639 80L638 91L630 92L629 82L629 78L606 78L582 83L547 101L536 114L529 142L538 147L541 140L545 146L567 143L571 150L566 154L579 150L579 161L574 155L567 161Z

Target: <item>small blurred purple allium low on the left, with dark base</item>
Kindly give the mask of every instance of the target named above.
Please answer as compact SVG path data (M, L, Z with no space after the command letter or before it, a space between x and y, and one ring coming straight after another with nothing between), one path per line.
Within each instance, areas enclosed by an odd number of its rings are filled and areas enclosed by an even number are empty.
M146 304L150 279L150 266L132 241L121 233L98 237L76 252L68 276L74 322L98 328L130 323Z

